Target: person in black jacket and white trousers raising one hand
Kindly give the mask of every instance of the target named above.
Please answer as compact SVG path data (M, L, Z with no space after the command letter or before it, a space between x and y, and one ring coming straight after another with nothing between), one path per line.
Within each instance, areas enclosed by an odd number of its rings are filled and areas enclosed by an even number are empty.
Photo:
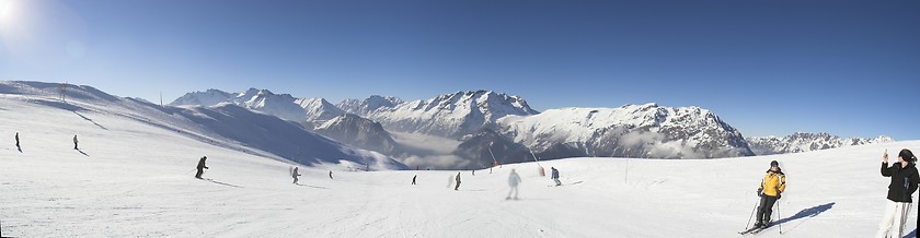
M888 152L882 155L882 176L892 177L892 183L888 185L885 215L882 216L875 237L904 236L907 213L910 212L910 195L917 191L917 183L920 182L916 163L917 157L907 148L898 153L898 163L892 167L888 167Z

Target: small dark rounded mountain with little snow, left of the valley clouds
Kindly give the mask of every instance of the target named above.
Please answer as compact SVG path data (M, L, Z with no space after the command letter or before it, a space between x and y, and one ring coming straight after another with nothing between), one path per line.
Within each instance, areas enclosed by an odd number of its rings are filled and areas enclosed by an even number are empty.
M380 123L344 114L335 117L313 130L338 142L365 150L380 152L387 155L399 153L399 145Z

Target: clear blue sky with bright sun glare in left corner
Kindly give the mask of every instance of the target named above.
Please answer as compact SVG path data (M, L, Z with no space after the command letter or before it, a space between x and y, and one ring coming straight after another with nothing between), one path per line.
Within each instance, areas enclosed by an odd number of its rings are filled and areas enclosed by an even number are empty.
M920 1L0 0L0 79L166 103L468 90L656 102L745 135L920 139Z

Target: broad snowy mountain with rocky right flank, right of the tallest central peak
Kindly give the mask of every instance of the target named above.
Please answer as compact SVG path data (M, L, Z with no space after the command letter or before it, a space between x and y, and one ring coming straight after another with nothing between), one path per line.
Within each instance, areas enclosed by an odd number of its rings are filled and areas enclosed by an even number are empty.
M738 130L699 107L560 108L498 121L539 157L718 158L754 153Z

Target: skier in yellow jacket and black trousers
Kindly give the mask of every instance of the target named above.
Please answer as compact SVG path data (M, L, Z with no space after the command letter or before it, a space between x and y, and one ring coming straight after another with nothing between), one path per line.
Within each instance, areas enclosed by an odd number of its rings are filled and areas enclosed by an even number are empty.
M780 169L780 163L777 160L770 162L770 169L760 181L760 187L757 188L757 195L760 197L760 209L757 210L757 223L754 227L770 226L770 217L773 213L773 204L777 203L782 195L780 193L785 190L785 174Z

